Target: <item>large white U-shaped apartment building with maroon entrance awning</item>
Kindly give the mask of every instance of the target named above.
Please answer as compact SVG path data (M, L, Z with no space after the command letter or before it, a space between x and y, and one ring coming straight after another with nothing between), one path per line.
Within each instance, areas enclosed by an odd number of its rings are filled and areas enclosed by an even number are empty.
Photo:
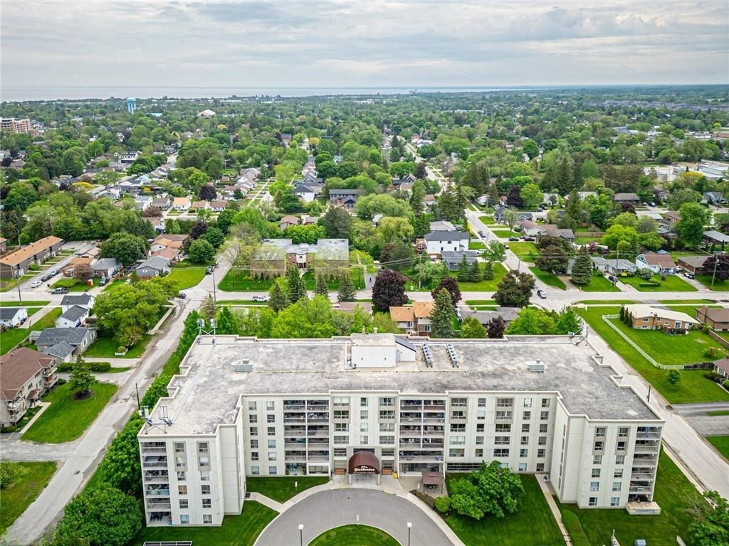
M241 512L249 475L492 460L544 473L562 502L656 509L663 421L567 336L200 336L168 392L139 432L147 525L219 526Z

